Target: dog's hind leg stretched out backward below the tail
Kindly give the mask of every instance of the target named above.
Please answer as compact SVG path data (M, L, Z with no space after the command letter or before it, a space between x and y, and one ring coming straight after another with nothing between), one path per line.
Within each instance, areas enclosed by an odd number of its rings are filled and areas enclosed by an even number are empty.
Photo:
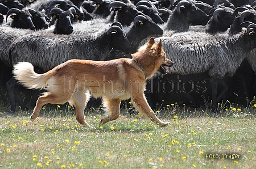
M68 102L68 100L71 98L72 94L53 94L51 92L45 93L43 96L40 96L38 100L36 101L36 106L34 108L34 112L30 116L30 119L34 121L36 117L38 117L40 109L43 107L43 105L52 103L52 104L64 104Z

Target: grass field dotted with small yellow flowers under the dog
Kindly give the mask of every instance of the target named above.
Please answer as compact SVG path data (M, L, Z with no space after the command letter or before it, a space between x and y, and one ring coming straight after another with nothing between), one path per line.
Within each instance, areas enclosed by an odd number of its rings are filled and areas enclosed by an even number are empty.
M80 125L68 105L32 111L0 108L0 168L255 168L256 104L230 105L218 113L165 105L161 128L122 109L104 126L101 108L85 111L96 129Z

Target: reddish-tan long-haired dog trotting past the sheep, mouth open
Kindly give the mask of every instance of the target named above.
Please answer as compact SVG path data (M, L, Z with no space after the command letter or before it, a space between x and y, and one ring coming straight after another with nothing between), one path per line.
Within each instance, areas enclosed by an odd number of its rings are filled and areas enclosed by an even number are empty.
M39 96L31 120L38 117L45 104L69 102L76 107L76 120L90 126L85 121L84 109L90 95L93 95L95 98L102 97L108 113L101 119L101 124L118 119L121 100L131 98L131 103L142 115L160 126L166 126L168 122L158 119L148 105L144 90L146 79L156 71L168 73L166 66L174 63L166 58L162 41L155 43L154 37L131 56L133 58L110 61L69 60L43 74L35 73L29 62L19 62L14 65L13 73L23 86L48 91Z

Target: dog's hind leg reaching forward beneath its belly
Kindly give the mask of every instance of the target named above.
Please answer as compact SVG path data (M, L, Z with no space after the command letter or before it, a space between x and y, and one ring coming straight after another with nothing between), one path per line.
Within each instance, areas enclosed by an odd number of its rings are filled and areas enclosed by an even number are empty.
M69 103L74 104L76 107L76 120L82 125L87 125L90 126L90 128L93 128L88 124L88 122L85 121L84 117L84 109L89 98L89 95L84 92L75 92L72 96L72 99L69 100Z

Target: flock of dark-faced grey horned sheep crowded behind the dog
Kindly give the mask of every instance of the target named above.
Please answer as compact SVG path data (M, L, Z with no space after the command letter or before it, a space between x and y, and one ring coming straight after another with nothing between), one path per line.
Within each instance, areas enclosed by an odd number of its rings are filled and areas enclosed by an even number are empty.
M216 110L221 100L253 98L255 6L251 0L0 1L1 95L7 87L11 112L16 101L22 109L35 104L39 91L24 101L11 78L18 62L43 73L72 58L131 57L154 36L175 65L148 79L152 108L163 100L195 107L212 100Z

